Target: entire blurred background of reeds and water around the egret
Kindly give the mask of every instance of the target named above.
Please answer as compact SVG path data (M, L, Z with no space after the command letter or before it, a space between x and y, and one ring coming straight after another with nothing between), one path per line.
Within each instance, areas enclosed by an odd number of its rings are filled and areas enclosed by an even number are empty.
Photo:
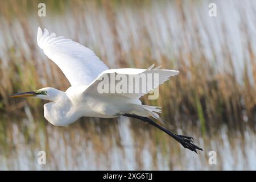
M40 2L46 17L38 16ZM208 15L210 2L217 17ZM0 169L256 169L255 13L253 0L1 1ZM155 63L179 70L160 86L158 100L142 101L162 106L173 129L205 152L191 154L125 118L53 127L42 118L44 101L10 99L20 91L69 87L38 48L38 26L89 47L109 68ZM46 167L36 164L39 150L51 157ZM210 150L220 156L216 166L208 164Z

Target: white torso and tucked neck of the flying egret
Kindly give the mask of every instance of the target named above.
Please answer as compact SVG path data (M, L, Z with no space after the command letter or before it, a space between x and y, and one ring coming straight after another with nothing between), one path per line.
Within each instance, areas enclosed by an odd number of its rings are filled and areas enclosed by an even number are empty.
M53 90L44 90L48 89ZM131 113L136 105L141 105L139 100L130 100L122 96L104 97L84 93L82 90L73 86L66 92L55 89L57 97L53 102L44 104L44 117L52 125L67 126L81 117L119 117L123 113Z

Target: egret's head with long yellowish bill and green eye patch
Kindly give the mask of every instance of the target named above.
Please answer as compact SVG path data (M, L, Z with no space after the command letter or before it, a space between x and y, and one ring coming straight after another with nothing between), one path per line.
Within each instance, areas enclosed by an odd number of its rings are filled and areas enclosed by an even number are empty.
M41 98L43 100L55 101L57 97L60 96L62 92L55 88L46 87L39 90L34 90L30 92L22 92L11 94L10 97L32 97L32 98Z

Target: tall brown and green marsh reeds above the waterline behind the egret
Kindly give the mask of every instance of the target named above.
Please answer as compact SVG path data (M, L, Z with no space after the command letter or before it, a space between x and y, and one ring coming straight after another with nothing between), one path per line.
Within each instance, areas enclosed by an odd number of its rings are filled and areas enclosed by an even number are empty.
M235 28L225 19L225 3L220 3L216 18L209 18L205 1L45 1L44 18L37 16L38 3L0 2L3 114L23 114L26 105L42 110L42 101L10 100L11 93L69 86L36 45L36 28L41 26L93 49L110 68L156 63L179 70L179 76L160 86L158 100L142 98L144 104L162 106L172 125L185 120L199 125L202 133L222 123L237 129L244 123L255 125L253 1L245 3L246 13L242 2L230 2L240 19ZM238 37L232 37L234 31ZM236 46L242 56L237 56Z

